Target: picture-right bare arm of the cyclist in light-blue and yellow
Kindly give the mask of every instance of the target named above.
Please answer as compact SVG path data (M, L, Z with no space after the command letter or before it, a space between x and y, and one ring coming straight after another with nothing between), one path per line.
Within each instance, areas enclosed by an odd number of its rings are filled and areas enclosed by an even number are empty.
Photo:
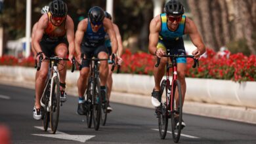
M190 20L190 18L186 18L184 33L189 35L192 43L197 47L197 49L194 50L192 54L196 58L200 58L200 56L205 52L205 45L203 44L202 38L200 36L200 33L198 32L196 24L194 24L194 22Z

